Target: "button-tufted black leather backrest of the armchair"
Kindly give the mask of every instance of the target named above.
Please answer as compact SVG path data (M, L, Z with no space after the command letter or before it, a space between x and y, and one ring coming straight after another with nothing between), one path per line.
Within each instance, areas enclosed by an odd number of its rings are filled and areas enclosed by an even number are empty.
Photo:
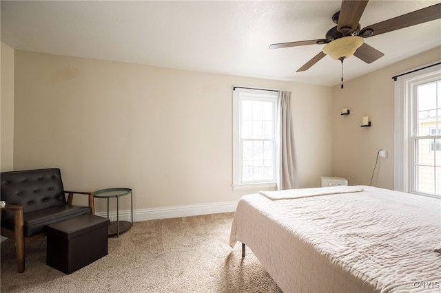
M0 180L1 200L23 206L23 214L66 204L58 168L4 172ZM8 210L3 213L3 217L13 215Z

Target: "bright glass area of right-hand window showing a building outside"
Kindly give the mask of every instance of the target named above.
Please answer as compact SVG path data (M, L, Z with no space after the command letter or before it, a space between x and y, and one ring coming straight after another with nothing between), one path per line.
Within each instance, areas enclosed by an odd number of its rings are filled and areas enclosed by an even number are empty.
M418 85L414 105L414 189L441 195L441 81Z

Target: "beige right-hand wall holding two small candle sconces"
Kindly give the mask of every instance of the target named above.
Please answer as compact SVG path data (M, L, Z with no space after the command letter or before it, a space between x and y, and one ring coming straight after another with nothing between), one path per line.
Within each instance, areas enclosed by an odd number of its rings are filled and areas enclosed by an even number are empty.
M405 61L332 88L332 174L346 177L349 184L369 184L378 150L386 149L380 159L378 180L374 185L393 189L394 81L391 78L409 69L441 59L435 48ZM369 65L367 65L369 66ZM348 107L349 116L340 116ZM362 116L369 115L371 127L360 127Z

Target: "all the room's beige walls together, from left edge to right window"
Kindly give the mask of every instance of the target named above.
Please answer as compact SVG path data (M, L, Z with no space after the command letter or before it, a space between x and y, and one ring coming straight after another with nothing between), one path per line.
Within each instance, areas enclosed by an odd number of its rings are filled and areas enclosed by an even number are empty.
M66 188L129 186L137 210L235 201L256 191L231 187L232 85L246 85L292 91L301 187L319 186L320 175L369 184L386 149L373 184L393 188L391 76L440 55L438 47L340 89L14 52L2 43L1 169L59 166ZM349 116L340 116L343 107ZM360 127L365 115L372 127Z

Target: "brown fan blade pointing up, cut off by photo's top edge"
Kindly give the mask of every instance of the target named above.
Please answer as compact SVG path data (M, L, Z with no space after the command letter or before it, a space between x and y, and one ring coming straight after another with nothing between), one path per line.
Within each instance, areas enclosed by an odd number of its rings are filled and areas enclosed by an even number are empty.
M337 30L343 34L356 30L358 21L365 11L367 0L365 1L351 1L343 0L340 8L340 15L338 16ZM351 29L350 31L346 31Z

